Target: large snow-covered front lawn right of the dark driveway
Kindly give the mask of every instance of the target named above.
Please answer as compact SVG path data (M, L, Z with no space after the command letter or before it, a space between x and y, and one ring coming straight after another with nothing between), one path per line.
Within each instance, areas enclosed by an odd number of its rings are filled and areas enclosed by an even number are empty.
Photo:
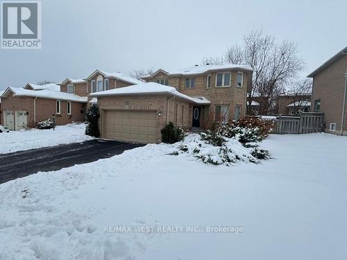
M346 147L271 135L262 148L276 159L213 166L148 145L1 184L0 259L346 259ZM170 225L244 231L133 227Z

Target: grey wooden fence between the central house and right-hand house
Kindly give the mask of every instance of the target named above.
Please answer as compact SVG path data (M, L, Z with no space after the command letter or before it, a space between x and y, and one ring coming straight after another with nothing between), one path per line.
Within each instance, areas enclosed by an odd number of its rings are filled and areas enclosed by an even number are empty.
M310 132L323 132L324 114L303 112L300 116L279 116L275 120L273 133L286 134L308 134Z

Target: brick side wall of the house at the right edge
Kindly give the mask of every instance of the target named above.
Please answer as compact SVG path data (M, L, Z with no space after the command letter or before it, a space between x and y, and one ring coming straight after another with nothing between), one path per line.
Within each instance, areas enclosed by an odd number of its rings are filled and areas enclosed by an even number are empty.
M344 103L344 73L347 72L347 55L325 67L313 76L311 111L315 112L314 101L321 100L320 112L324 113L325 130L330 132L330 123L336 123L336 131L341 132L341 116ZM344 104L347 107L346 103ZM347 135L347 110L344 118L344 135Z

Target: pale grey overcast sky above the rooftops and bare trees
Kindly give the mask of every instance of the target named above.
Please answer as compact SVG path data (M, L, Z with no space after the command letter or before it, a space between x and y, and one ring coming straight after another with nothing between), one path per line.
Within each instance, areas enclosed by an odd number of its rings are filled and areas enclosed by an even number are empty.
M95 69L181 69L261 29L298 44L303 76L347 46L346 1L42 0L42 49L0 49L0 89Z

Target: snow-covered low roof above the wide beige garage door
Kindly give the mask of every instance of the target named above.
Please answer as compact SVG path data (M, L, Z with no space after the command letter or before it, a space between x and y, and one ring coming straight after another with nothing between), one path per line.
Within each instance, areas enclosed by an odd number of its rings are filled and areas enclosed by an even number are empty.
M151 95L151 94L163 94L172 95L178 98L182 98L186 101L197 103L201 105L208 105L211 103L204 97L192 97L178 92L174 87L161 85L158 83L141 83L139 85L133 85L129 87L121 87L119 89L109 89L103 92L94 92L90 96L128 96L128 95Z

